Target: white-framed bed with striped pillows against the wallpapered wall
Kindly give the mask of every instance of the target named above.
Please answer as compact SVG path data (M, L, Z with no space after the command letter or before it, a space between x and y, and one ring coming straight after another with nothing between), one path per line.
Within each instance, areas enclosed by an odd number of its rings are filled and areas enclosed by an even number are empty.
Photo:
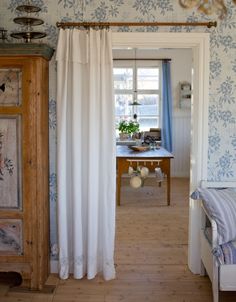
M236 291L236 191L198 188L191 197L201 200L201 274L218 302L220 290Z

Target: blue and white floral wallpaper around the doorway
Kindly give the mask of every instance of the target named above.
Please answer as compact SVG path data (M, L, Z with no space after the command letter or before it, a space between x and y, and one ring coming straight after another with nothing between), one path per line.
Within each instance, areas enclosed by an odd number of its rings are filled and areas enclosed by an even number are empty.
M1 0L0 27L8 33L19 30L13 18L24 0ZM203 27L142 27L116 28L116 31L178 31L210 32L210 107L208 180L236 181L236 5L225 0L228 13L220 20L217 15L202 15L195 8L185 10L178 0L32 0L41 7L39 17L45 23L37 28L47 32L42 41L56 47L57 21L158 21L204 22L217 20L216 28ZM14 41L16 42L16 41ZM50 206L51 257L57 258L56 237L56 68L50 62Z

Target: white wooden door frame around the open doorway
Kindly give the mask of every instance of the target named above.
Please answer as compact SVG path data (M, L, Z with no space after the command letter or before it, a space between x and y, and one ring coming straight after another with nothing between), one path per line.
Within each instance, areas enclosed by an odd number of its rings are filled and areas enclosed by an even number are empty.
M207 181L209 34L113 32L114 48L191 48L193 51L193 102L191 107L190 192ZM189 202L188 265L200 274L200 207Z

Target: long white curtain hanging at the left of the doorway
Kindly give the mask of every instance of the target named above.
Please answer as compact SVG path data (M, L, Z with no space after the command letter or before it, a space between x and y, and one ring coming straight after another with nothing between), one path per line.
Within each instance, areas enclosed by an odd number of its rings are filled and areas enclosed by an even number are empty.
M115 278L115 113L109 30L60 30L57 45L59 274Z

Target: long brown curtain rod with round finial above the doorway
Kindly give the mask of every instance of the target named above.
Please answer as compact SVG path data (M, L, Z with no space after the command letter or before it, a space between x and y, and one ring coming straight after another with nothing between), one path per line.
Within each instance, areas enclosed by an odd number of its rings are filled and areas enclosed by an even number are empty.
M57 27L110 27L110 26L207 26L216 27L217 22L57 22Z

